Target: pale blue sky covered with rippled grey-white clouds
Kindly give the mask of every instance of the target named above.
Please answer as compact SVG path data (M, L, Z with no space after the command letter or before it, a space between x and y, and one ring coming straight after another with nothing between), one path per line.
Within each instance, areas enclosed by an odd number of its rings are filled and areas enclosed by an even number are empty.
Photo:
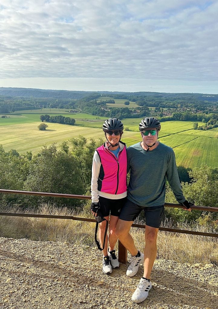
M218 0L1 0L0 87L218 93Z

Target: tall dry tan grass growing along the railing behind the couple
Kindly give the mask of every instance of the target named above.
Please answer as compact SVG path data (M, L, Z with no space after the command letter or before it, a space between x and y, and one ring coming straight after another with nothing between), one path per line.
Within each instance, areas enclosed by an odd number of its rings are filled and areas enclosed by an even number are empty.
M22 212L19 209L4 209L2 212ZM33 213L31 210L26 213ZM42 205L37 213L55 215L73 215L87 217L85 213L73 213L67 208L58 209L55 206ZM138 222L137 222L138 223ZM163 227L172 227L165 220ZM60 241L74 244L95 246L94 222L82 222L67 219L0 217L0 236L7 238L28 238L41 241ZM197 223L190 228L187 223L177 226L178 229L204 231L213 233L212 229L202 227ZM144 249L144 230L132 228L131 235L136 247ZM158 235L157 258L175 260L182 263L214 263L218 265L218 239L206 236L179 234L160 231Z

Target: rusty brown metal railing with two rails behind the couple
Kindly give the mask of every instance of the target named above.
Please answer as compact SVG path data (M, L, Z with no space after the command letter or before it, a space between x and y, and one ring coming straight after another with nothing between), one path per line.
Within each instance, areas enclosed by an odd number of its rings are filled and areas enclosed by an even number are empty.
M24 194L24 195L37 195L37 196L47 196L47 197L63 197L63 198L74 198L74 199L85 199L90 200L91 196L86 195L76 195L76 194L62 194L62 193L47 193L47 192L34 192L34 191L19 191L19 190L4 190L0 189L0 193L3 194ZM173 208L183 208L183 206L179 204L171 204L165 203L166 207L173 207ZM205 206L191 206L192 210L206 210L211 212L218 212L218 207L205 207ZM58 215L47 215L47 214L19 214L19 213L5 213L0 212L1 216L15 216L15 217L33 217L33 218L55 218L55 219L71 219L77 221L85 221L85 222L96 222L95 219L89 218L79 218L73 216L58 216ZM132 224L133 227L145 228L145 225L141 224ZM188 231L188 230L179 230L179 229L171 229L160 227L160 231L168 231L174 233L183 233L183 234L191 234L191 235L201 235L201 236L209 236L209 237L218 237L218 234L215 233L204 233L204 232L196 232L196 231ZM127 250L126 248L118 241L118 260L121 263L127 262Z

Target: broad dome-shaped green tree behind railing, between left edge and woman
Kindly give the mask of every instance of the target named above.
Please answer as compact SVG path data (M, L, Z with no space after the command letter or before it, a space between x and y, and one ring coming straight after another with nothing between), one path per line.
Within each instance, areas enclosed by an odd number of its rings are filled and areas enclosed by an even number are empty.
M28 177L24 183L27 191L53 192L83 195L85 187L81 180L76 158L71 153L57 150L52 144L44 146L39 154L30 161ZM75 199L57 199L54 197L26 197L27 204L37 205L39 201L76 205Z

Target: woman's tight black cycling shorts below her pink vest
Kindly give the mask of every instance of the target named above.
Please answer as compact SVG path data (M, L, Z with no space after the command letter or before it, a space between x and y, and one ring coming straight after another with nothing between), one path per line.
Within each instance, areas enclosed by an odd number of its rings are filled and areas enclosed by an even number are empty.
M111 216L119 217L121 208L125 204L126 197L119 200L111 200L109 198L99 196L100 209L103 217Z

